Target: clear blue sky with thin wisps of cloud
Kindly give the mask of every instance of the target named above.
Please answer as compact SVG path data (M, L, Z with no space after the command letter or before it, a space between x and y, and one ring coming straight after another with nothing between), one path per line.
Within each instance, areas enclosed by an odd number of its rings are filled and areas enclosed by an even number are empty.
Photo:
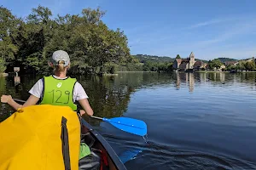
M103 21L128 37L131 54L235 59L256 56L256 0L2 0L25 17L38 4L53 14L100 6Z

